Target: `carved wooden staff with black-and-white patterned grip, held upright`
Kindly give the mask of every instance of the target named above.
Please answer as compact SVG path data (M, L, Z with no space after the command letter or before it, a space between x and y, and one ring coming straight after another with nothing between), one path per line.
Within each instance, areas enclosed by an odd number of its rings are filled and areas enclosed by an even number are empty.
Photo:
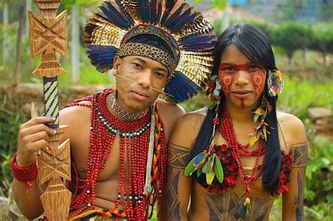
M34 0L41 17L29 11L31 58L42 53L41 63L32 72L33 76L44 79L44 114L54 116L56 120L48 124L57 130L50 138L48 147L40 152L38 158L39 184L48 182L41 195L48 220L67 220L70 209L71 192L63 185L63 179L70 180L70 142L59 144L67 126L59 126L58 76L65 69L58 62L55 51L67 55L67 11L57 16L62 0Z

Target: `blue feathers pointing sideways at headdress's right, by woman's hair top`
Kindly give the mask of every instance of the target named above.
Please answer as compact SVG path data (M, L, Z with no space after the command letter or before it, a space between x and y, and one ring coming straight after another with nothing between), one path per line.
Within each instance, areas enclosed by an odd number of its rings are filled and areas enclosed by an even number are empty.
M195 33L179 39L178 43L185 51L207 51L214 49L216 37L212 34Z

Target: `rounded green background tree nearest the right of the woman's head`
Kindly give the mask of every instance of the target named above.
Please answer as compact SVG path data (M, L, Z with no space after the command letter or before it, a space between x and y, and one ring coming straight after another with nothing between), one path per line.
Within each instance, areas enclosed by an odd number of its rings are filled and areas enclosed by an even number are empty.
M285 22L274 29L271 42L285 50L291 64L295 51L304 50L310 46L312 34L311 27L307 25L299 22Z

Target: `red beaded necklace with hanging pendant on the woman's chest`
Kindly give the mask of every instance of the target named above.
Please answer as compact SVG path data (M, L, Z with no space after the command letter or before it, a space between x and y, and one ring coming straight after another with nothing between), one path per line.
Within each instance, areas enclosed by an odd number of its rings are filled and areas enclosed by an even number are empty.
M250 182L257 180L262 173L263 163L265 161L265 158L263 157L261 166L259 166L259 159L260 156L262 156L265 153L265 145L263 139L260 139L259 147L252 151L249 151L247 150L249 144L247 145L240 144L240 142L237 141L235 130L233 128L233 121L231 120L230 114L226 109L226 107L224 107L223 109L220 125L221 126L219 127L219 131L223 136L223 138L226 139L226 141L228 142L228 146L233 150L233 156L235 156L235 159L237 160L237 163L239 165L237 174L242 183L244 183L244 185L247 186L245 190L246 198L244 201L244 207L242 208L242 210L244 210L244 215L241 214L242 216L246 216L246 214L249 212L249 203L250 203L249 193L251 192L251 189L249 187L249 184ZM247 175L246 173L246 169L244 168L241 159L242 156L245 157L256 156L256 160L254 162L251 175Z

